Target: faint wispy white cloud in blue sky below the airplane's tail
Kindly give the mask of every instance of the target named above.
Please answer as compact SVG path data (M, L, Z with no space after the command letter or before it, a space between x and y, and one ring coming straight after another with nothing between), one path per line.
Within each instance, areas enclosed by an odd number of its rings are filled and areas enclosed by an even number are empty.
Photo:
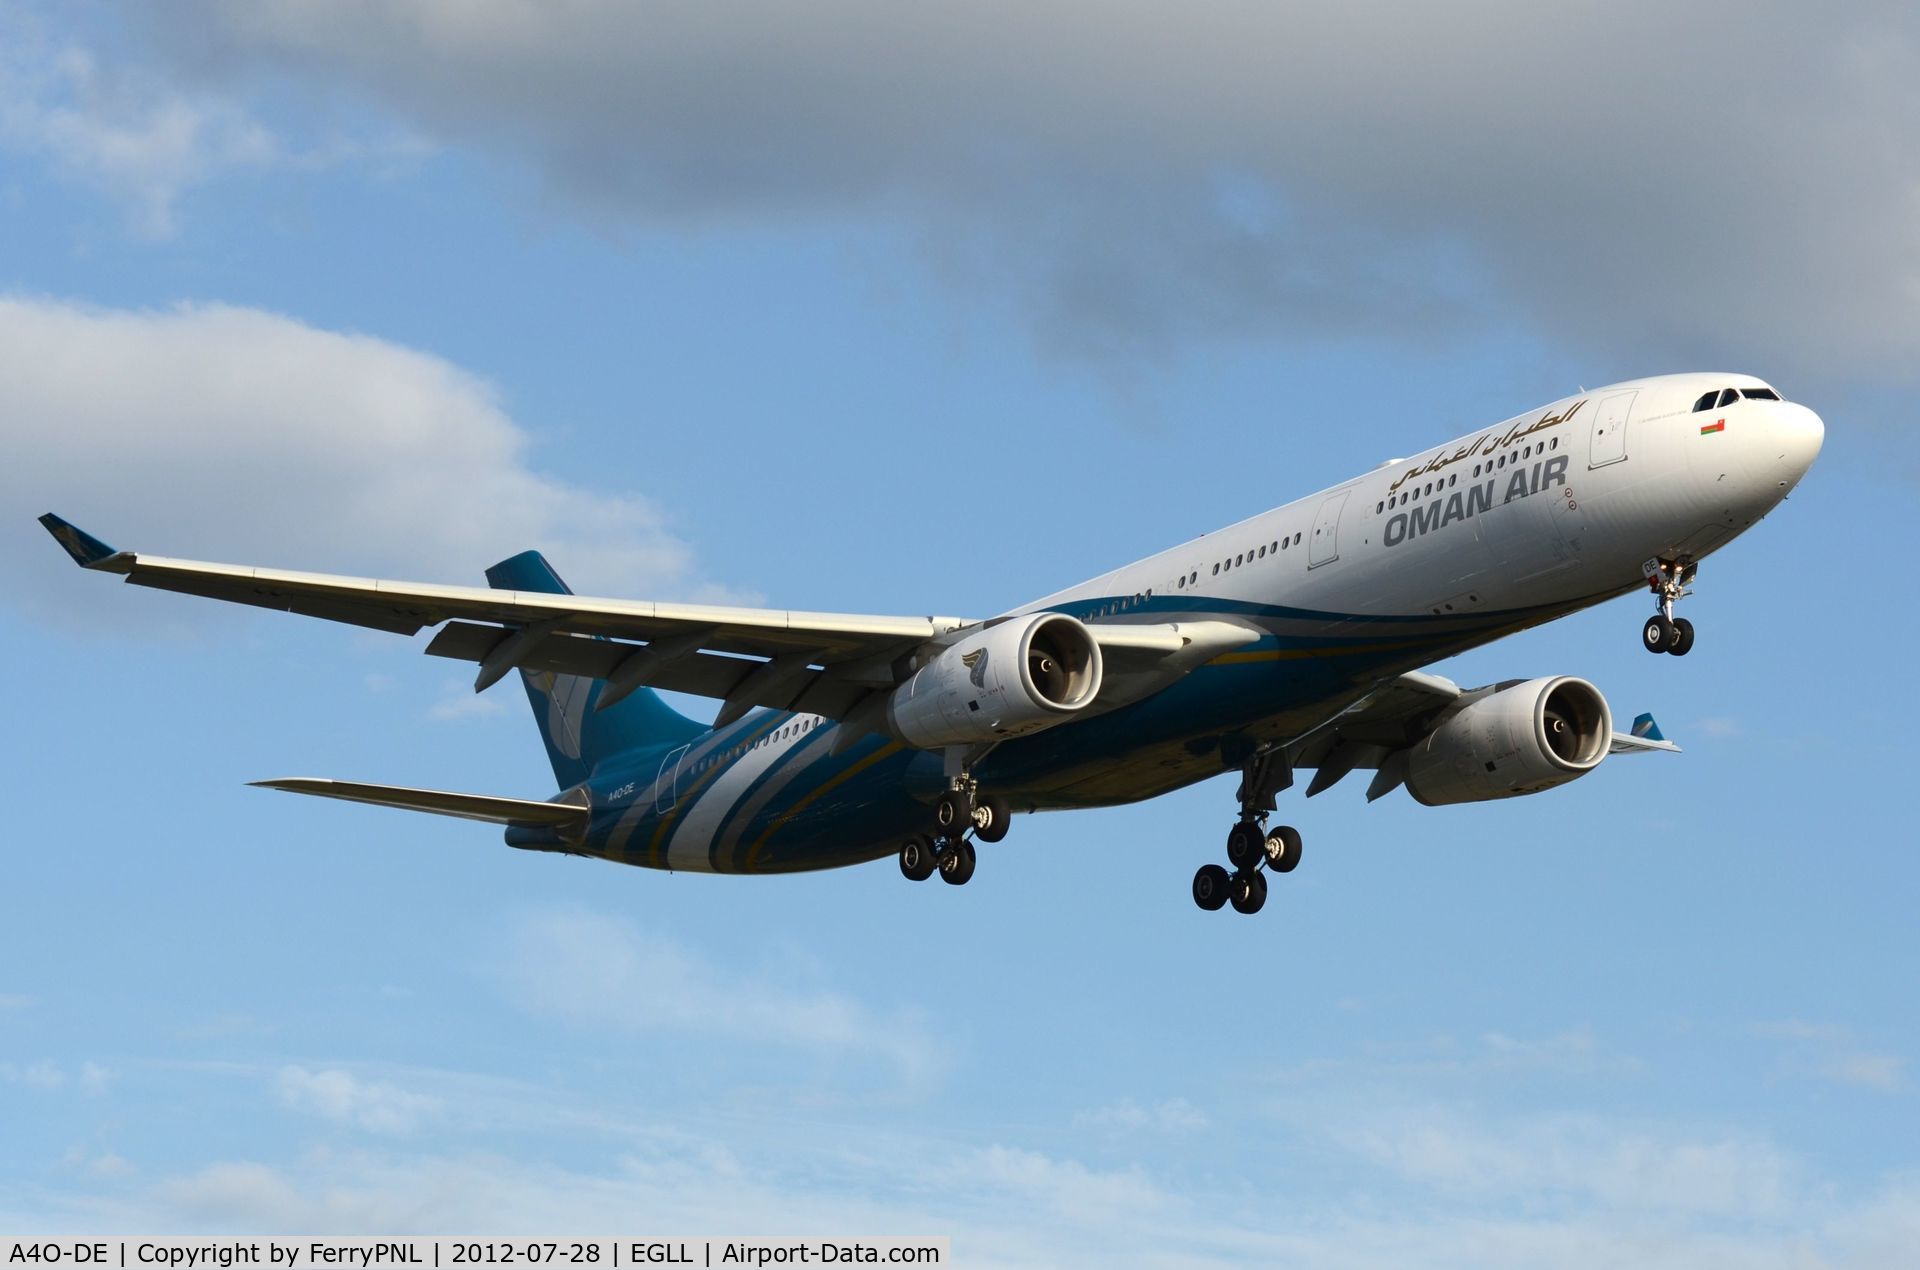
M912 1084L945 1068L941 1047L910 1011L877 1013L839 991L726 970L584 909L520 918L509 949L507 986L536 1014L620 1032L751 1038L877 1062Z

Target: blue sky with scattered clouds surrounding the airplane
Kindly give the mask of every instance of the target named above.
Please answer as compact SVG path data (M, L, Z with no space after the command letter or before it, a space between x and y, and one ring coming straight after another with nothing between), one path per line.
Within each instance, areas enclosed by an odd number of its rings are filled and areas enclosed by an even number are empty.
M1912 15L708 10L0 4L0 1228L1908 1264ZM1294 795L1252 920L1187 897L1231 778L1021 818L964 891L250 790L547 772L511 684L33 523L979 615L1715 365L1828 444L1695 653L1632 599L1440 667L1686 755Z

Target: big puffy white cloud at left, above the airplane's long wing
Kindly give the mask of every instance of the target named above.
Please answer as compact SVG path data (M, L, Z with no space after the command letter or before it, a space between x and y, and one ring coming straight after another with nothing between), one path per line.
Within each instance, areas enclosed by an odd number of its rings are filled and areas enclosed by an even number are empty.
M159 555L474 584L541 548L582 592L699 590L651 501L538 471L480 377L261 309L0 298L0 582L40 607L138 603L29 548L42 511Z

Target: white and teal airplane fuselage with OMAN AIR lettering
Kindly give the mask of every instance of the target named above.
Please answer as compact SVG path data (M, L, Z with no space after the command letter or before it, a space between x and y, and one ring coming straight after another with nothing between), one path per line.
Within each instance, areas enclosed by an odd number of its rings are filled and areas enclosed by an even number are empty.
M1010 611L1231 623L1248 642L1133 696L1116 684L1116 705L1102 696L1104 709L1004 742L977 774L1016 809L1154 797L1311 732L1394 674L1715 551L1788 496L1824 436L1803 405L1718 405L1728 388L1770 396L1743 375L1582 392ZM720 872L891 853L943 788L941 755L899 742L839 755L826 722L766 711L695 742L674 763L716 778L674 817L630 813L607 853ZM662 765L655 790L670 780Z

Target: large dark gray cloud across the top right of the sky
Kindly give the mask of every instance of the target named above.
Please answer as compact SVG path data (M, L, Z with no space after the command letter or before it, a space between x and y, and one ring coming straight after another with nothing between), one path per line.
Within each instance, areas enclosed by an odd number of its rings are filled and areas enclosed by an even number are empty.
M357 86L612 223L900 217L1068 355L1920 352L1910 6L200 4L167 27L211 81Z

